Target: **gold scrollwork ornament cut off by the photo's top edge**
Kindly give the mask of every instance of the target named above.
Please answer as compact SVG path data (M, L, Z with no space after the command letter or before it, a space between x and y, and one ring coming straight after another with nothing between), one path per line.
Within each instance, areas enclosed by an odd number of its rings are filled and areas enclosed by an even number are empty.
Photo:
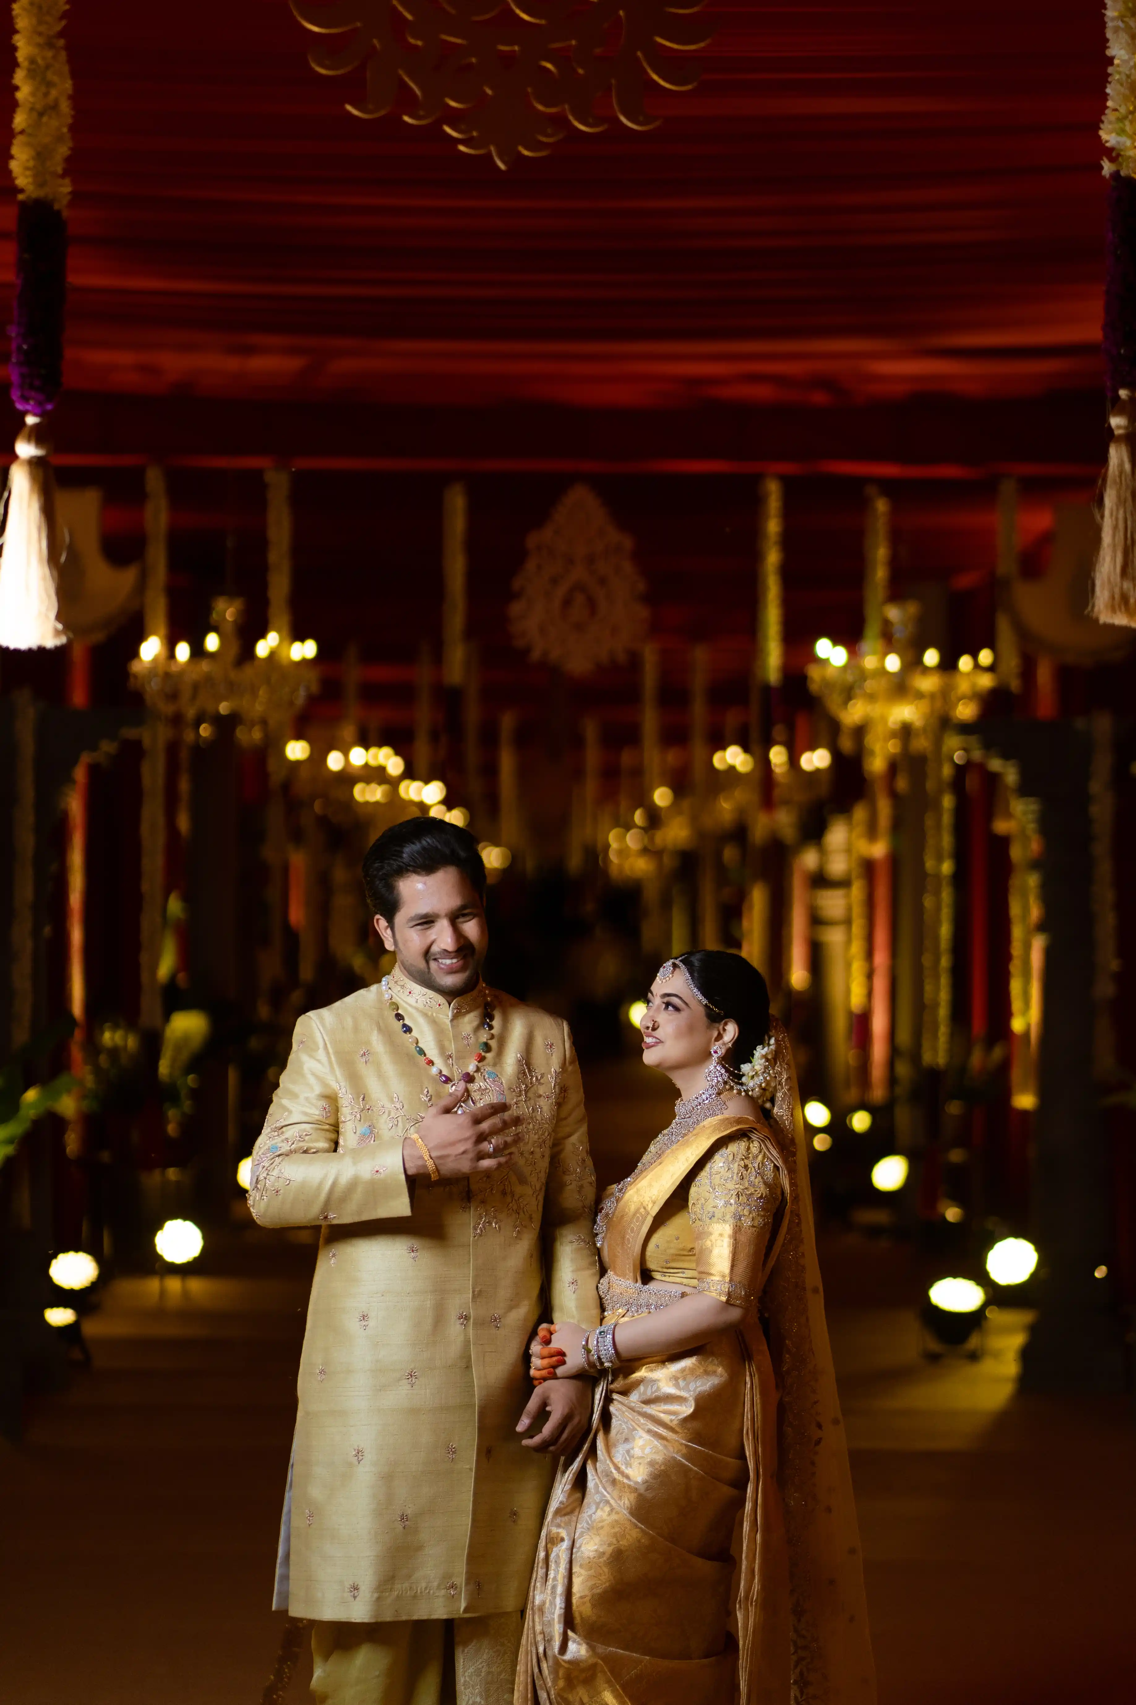
M501 167L518 153L548 153L565 135L606 128L610 97L632 130L652 130L647 84L693 89L700 66L664 49L705 48L710 32L693 15L702 0L291 0L305 29L337 36L308 63L325 75L366 65L366 95L347 111L382 118L400 84L417 97L410 124L443 118L463 153L492 153Z

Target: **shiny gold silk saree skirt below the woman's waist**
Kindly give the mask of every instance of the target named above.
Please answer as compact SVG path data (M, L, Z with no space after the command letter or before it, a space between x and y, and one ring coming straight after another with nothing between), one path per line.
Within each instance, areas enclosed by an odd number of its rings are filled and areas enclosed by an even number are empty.
M542 1705L732 1700L746 1384L743 1340L724 1332L601 1386L536 1560L526 1633Z

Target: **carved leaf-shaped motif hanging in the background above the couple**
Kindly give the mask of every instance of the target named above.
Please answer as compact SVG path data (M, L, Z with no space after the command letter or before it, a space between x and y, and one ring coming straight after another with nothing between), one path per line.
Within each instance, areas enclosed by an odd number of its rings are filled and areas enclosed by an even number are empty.
M589 675L620 663L647 634L635 546L591 486L565 491L543 527L528 535L513 581L513 643L536 663Z

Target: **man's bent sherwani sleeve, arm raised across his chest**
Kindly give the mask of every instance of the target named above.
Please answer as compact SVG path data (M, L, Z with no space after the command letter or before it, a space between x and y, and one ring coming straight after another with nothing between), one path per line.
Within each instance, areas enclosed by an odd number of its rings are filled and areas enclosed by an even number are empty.
M410 1212L402 1137L354 1136L339 1147L339 1083L313 1013L296 1021L291 1054L252 1149L249 1207L262 1226L351 1224Z

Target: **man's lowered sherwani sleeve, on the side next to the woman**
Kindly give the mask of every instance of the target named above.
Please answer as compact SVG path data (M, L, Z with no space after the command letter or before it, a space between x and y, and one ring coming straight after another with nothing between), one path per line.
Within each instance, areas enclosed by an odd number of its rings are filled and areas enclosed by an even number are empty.
M548 1303L552 1320L576 1320L581 1326L598 1326L603 1318L596 1291L600 1262L591 1231L596 1173L588 1149L584 1086L567 1025L560 1083L543 1209Z

